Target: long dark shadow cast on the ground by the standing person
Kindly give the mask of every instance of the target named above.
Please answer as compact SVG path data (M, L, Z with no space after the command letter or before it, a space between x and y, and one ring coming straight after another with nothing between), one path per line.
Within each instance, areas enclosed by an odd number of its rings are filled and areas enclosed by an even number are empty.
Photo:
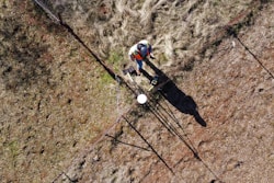
M162 96L167 101L169 101L170 104L176 107L180 112L192 115L199 125L202 125L203 127L206 127L206 122L199 115L197 111L197 104L192 99L192 96L186 95L184 92L182 92L176 87L176 84L171 79L169 79L169 77L165 73L163 73L160 69L158 69L151 61L146 59L146 64L158 76L158 84L161 84L161 82L165 82L167 80L169 80L169 82L162 85L161 90L159 90ZM146 70L141 70L141 72L150 81L153 79L153 77L150 76Z

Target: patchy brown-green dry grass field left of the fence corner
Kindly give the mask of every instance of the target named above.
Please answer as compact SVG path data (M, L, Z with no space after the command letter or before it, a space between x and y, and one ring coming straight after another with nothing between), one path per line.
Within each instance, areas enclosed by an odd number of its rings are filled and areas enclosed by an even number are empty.
M0 7L0 176L50 182L115 122L115 81L32 1Z

